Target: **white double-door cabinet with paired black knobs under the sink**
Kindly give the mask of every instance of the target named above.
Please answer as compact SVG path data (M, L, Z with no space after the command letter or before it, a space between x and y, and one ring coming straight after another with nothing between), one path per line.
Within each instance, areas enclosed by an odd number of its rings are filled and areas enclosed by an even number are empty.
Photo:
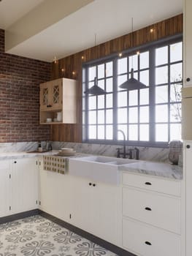
M73 177L72 224L120 245L120 187Z

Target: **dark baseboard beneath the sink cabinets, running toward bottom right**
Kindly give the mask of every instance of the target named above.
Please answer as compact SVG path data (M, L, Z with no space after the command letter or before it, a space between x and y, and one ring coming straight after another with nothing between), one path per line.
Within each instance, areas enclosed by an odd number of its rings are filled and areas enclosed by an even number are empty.
M90 241L93 241L96 244L99 244L100 246L110 250L111 252L114 252L117 255L120 256L137 256L132 254L131 252L128 252L118 246L115 246L114 244L111 244L97 236L93 236L91 233L86 232L85 230L81 230L79 227L75 227L68 222L64 222L62 219L58 219L54 217L53 215L47 214L45 211L39 210L39 214L42 217L45 217L46 219L50 219L51 221L57 223L58 225L61 225L61 227L65 227L68 230L71 230L72 232L76 233L77 235L80 235L84 238L87 238Z

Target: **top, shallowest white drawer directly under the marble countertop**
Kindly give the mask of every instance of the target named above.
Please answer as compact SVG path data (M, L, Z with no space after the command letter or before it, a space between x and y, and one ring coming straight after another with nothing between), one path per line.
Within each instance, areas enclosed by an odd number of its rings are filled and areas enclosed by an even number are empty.
M123 184L131 187L139 187L155 192L161 192L169 195L180 196L180 181L172 181L164 178L153 178L148 175L137 175L131 173L123 173Z

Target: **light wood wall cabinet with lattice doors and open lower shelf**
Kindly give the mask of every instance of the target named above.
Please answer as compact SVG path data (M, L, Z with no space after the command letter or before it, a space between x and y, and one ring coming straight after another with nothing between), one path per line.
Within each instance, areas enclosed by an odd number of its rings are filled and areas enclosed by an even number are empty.
M76 123L76 88L77 81L68 78L41 83L40 124Z

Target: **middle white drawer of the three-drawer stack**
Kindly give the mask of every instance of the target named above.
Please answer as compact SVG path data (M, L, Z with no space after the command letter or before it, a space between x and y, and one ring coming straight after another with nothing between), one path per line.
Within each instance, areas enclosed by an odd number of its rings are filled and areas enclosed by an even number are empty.
M180 199L123 188L123 216L180 233Z

